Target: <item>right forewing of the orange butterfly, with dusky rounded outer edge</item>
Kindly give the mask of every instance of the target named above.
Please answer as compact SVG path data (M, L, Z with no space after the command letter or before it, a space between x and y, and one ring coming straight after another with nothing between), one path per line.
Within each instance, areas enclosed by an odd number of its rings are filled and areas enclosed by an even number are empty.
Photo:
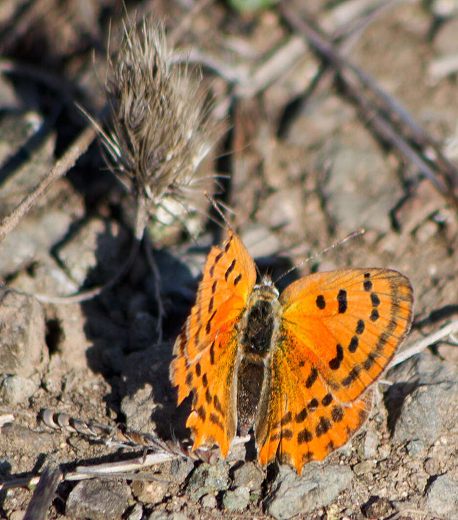
M289 285L280 302L283 334L305 345L342 401L381 375L412 321L409 280L389 269L316 273Z

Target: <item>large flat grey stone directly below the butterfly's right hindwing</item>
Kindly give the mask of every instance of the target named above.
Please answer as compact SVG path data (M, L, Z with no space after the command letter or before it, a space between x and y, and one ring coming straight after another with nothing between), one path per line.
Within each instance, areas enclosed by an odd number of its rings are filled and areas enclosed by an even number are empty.
M271 491L264 500L267 513L278 520L305 514L329 505L347 489L354 473L347 466L307 464L302 475L289 466L280 466Z

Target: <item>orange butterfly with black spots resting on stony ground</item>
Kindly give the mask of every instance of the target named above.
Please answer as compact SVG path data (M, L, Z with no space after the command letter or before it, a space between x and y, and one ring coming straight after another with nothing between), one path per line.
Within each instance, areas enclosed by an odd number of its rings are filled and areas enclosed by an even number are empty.
M197 300L174 345L170 379L193 447L251 428L261 466L278 457L300 474L343 446L367 419L371 385L407 335L413 294L389 269L317 272L281 294L227 230L207 257Z

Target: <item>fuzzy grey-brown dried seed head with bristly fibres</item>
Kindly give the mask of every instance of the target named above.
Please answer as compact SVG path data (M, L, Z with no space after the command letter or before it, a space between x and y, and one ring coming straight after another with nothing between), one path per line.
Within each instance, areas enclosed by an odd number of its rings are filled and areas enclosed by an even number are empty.
M189 188L198 189L195 170L219 136L199 84L173 62L164 25L146 19L124 26L110 65L110 166L150 212L164 197L186 206Z

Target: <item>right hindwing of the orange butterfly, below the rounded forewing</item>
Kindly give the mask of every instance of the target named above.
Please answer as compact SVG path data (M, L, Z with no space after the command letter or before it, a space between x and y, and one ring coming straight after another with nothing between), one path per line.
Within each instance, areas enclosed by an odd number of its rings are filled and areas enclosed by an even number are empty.
M261 465L278 456L300 474L305 463L324 459L358 431L371 409L372 392L350 404L339 402L312 363L298 360L290 366L281 347L273 353L275 375L267 413L256 424L256 444ZM305 383L304 372L309 374Z

